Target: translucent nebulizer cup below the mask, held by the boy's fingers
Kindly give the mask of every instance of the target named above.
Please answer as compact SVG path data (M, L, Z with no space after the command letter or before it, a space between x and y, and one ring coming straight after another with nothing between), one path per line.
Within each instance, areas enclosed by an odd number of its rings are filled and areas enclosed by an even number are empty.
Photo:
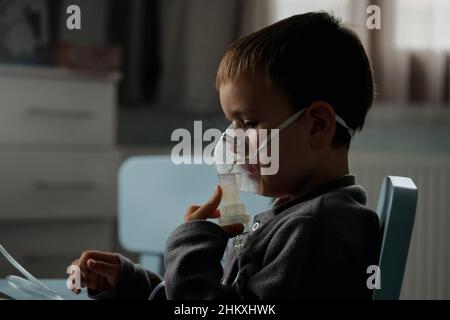
M239 197L239 174L219 173L219 182L222 187L222 206L220 208L219 224L227 226L232 224L242 224L244 230L241 234L233 238L233 247L239 252L248 232L250 217L245 209L245 205Z

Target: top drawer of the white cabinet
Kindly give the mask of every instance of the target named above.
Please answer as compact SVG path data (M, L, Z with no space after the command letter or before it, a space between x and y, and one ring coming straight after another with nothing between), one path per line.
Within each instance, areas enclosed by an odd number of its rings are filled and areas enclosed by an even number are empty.
M0 76L0 143L115 141L113 82Z

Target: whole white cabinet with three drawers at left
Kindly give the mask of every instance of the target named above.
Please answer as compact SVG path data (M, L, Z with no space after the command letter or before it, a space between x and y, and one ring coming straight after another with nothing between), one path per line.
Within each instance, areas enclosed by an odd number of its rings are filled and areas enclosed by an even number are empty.
M0 65L0 243L38 276L114 250L117 81ZM0 262L0 277L11 271Z

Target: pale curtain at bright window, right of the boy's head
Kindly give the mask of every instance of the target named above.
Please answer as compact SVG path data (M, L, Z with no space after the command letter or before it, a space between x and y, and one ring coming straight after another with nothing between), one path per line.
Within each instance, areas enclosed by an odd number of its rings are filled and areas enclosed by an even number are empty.
M382 28L370 32L381 101L449 101L450 1L377 0Z

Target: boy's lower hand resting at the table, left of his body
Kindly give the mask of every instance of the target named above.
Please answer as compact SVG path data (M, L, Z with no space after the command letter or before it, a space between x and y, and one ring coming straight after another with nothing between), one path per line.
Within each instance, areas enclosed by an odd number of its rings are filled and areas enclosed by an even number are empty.
M72 262L81 271L81 286L95 291L108 291L117 285L120 273L120 259L109 252L85 251ZM72 289L80 293L80 289Z

